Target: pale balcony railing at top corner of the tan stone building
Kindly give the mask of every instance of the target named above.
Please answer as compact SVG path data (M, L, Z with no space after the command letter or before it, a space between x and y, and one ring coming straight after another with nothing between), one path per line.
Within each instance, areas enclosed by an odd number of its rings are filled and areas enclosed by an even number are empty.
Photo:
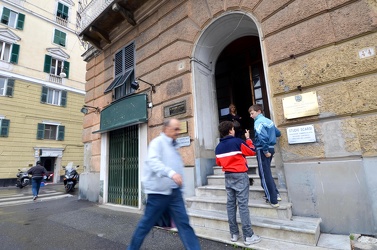
M86 6L82 6L82 9L78 11L81 20L77 25L79 33L85 30L114 0L92 0Z

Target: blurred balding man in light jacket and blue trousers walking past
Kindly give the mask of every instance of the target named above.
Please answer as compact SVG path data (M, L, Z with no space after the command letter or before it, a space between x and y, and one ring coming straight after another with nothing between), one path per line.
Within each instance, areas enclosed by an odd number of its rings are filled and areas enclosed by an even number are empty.
M185 249L201 249L190 226L182 197L184 165L176 139L180 122L171 119L163 124L163 132L149 144L142 174L144 192L148 195L145 212L132 236L128 250L138 250L152 227L168 211L178 229Z

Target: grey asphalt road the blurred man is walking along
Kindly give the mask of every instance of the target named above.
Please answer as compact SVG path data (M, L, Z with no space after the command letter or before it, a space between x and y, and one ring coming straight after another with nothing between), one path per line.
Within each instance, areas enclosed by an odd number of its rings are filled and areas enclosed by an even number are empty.
M62 185L48 185L40 192L64 191ZM76 190L77 192L77 190ZM29 197L30 195L30 197ZM0 198L27 196L23 190L0 188ZM98 206L97 203L71 197L27 204L1 206L0 249L126 249L140 214ZM233 246L201 239L202 249L233 249ZM177 233L154 228L141 249L184 249Z

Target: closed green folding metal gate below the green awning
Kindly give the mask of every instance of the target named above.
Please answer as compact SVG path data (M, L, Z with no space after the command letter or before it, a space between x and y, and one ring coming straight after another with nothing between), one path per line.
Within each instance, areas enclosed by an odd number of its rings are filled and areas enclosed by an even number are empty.
M138 207L138 138L137 125L110 132L109 203Z

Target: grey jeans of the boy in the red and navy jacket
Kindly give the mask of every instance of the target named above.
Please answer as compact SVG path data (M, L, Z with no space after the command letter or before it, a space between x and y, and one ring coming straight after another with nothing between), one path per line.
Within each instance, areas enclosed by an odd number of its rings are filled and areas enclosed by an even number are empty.
M225 189L227 193L226 208L230 234L239 235L237 224L237 203L240 213L243 238L251 237L254 232L251 227L249 212L250 181L247 173L225 173Z

